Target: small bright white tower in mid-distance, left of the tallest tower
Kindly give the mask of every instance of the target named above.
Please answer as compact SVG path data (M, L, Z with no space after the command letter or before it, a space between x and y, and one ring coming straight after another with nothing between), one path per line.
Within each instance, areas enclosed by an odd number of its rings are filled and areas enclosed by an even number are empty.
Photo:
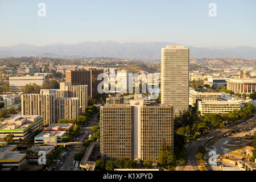
M117 71L117 90L119 93L127 93L129 86L129 73L127 70Z

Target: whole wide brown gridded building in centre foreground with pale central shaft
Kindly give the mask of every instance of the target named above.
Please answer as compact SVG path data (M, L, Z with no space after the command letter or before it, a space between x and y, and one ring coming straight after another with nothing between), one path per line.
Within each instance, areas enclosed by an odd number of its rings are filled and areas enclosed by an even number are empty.
M101 106L101 158L158 160L162 139L173 151L172 105L146 106L143 100L130 104Z

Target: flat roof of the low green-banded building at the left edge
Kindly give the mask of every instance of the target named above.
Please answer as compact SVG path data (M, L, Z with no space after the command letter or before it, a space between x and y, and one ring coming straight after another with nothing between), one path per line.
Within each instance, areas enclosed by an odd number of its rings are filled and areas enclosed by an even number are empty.
M3 124L0 125L0 131L2 130L25 130L33 123L43 119L40 115L12 115L9 118L3 119Z

